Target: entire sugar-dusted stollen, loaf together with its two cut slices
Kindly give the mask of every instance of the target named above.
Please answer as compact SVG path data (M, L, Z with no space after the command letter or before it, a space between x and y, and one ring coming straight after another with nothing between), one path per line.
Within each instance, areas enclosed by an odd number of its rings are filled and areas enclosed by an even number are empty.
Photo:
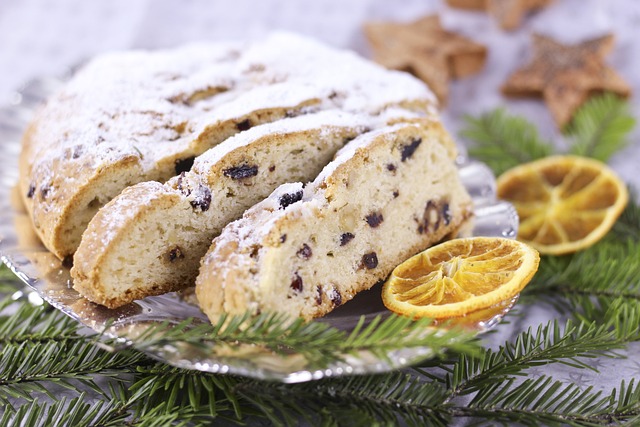
M199 275L212 319L310 319L470 216L456 155L419 80L275 33L92 61L29 127L20 183L90 301L121 307Z

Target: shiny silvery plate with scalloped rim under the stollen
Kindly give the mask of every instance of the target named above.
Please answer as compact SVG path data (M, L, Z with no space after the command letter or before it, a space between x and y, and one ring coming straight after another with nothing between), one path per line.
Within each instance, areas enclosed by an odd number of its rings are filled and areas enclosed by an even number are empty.
M31 229L31 222L21 206L17 194L18 157L20 137L33 110L62 80L39 79L27 84L16 93L13 105L0 109L0 255L2 261L46 302L78 322L117 337L123 346L136 345L138 336L149 324L168 321L179 323L187 318L207 321L195 306L175 294L150 297L116 310L93 304L82 298L71 287L69 269L49 253ZM459 173L474 200L473 221L463 233L467 235L501 236L514 238L518 229L518 216L508 203L496 201L495 179L482 163L461 157ZM473 326L486 331L500 322L517 298L489 316L474 319ZM323 319L330 325L349 330L361 316L367 320L377 315L388 315L380 298L379 287L361 292L356 298L336 309ZM108 327L107 327L108 326ZM424 360L431 349L407 348L388 354L381 359L370 352L345 354L339 363L311 366L300 354L277 355L256 347L238 345L237 348L174 345L147 348L150 356L188 369L214 373L233 373L254 378L301 382L326 376L385 372ZM184 344L184 343L183 343ZM120 347L118 347L120 348ZM117 348L113 348L117 351Z

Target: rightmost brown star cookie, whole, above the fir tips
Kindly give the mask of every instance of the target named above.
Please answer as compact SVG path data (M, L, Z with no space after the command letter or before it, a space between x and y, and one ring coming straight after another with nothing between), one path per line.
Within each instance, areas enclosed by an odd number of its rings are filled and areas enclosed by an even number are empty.
M507 79L502 93L517 97L542 96L558 127L562 128L593 94L631 95L630 86L605 64L604 57L613 43L611 34L577 45L564 45L534 34L533 59Z

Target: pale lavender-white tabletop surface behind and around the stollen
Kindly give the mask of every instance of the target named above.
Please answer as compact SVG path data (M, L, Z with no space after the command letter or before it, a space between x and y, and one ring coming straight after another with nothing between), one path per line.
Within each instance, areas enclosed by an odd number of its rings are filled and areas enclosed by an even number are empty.
M331 45L369 55L361 25L368 20L411 20L439 12L447 29L489 47L484 70L455 82L443 116L452 132L464 114L477 115L497 106L525 115L543 135L562 145L548 110L538 100L507 100L499 86L531 55L532 32L575 43L606 32L616 35L609 56L633 86L633 108L640 117L640 1L556 0L528 18L519 30L504 32L487 15L450 9L438 0L0 0L0 105L16 100L16 90L29 79L60 76L100 52L130 48L162 48L195 40L255 39L273 29L311 35ZM633 144L612 165L640 188L640 130ZM464 141L460 141L464 144ZM513 332L550 317L549 307L520 309L488 343L499 343ZM532 369L557 379L596 388L617 386L621 379L640 376L638 346L627 360L594 360L600 375L568 368ZM555 369L555 368L554 368Z

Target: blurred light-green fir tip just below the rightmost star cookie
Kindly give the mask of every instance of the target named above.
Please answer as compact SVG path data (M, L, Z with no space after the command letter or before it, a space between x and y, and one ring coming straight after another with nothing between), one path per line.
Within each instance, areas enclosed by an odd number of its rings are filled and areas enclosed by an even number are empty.
M628 145L635 123L627 100L612 93L593 97L580 107L567 128L569 153L606 163Z

